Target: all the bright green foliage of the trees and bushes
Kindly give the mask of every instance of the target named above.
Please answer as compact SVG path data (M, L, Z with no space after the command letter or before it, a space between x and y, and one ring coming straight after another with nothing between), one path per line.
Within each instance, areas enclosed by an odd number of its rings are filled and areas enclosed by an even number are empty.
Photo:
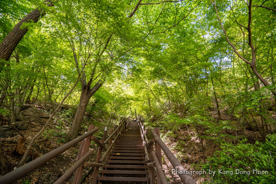
M210 1L153 0L150 4L142 1L146 5L140 5L131 18L127 16L137 1L60 0L54 1L54 7L43 2L0 1L1 41L34 8L47 12L39 23L21 26L29 31L10 60L1 61L4 63L0 66L3 67L1 114L19 117L20 111L15 115L16 110L27 103L27 97L28 101L31 98L46 101L52 109L78 79L77 87L65 101L67 104L78 105L84 88L91 89L97 82L103 82L86 108L91 115L87 121L99 127L104 120L95 117L117 119L134 116L136 110L145 115L149 128L163 129L162 136L167 139L178 139L179 129L187 128L197 132L201 141L211 139L218 144L244 138L246 129L262 123L268 125L268 130L260 133L273 131L275 120L269 112L275 110L271 95L276 84L274 11L252 7L251 35L257 47L255 66L271 84L265 86L250 65L233 53ZM263 3L275 9L274 2L256 0L253 4ZM251 60L248 31L241 26L248 25L247 4L240 0L216 4L229 40L245 59ZM43 137L54 136L62 142L65 127L71 124L75 111L74 108L63 110ZM243 132L234 137L227 130ZM268 143L240 143L236 147L225 144L224 152L217 153L220 163L214 160L210 167L268 167L265 160L269 155L260 149L273 150L273 145ZM175 148L181 150L184 144L185 141L178 140ZM243 154L250 163L242 165L236 161ZM231 182L234 176L227 177L223 175L215 180ZM257 175L235 177L233 181L261 182L258 180L261 176Z

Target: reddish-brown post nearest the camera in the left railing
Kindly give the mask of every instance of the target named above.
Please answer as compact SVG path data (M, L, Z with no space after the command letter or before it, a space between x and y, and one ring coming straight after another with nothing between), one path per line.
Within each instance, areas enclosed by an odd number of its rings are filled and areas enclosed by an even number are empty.
M94 128L95 128L94 125L90 125L88 131L91 131ZM76 161L78 161L81 157L83 157L83 155L85 155L87 153L87 151L90 148L90 143L91 143L91 139L90 139L90 136L89 136L85 139L85 141L83 143L83 149L82 149L80 155L78 153L79 158L77 156ZM81 145L81 147L82 147L82 145ZM73 181L74 184L81 183L81 176L83 174L83 169L84 169L84 167L82 165L80 165L79 168L76 170L75 178L74 178L74 181Z

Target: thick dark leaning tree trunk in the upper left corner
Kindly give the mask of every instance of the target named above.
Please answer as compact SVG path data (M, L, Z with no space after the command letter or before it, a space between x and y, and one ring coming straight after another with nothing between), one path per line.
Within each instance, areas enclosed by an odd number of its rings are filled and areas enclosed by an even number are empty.
M53 2L51 0L45 1L48 6L53 6ZM2 43L0 44L0 59L8 61L13 53L15 47L19 43L19 41L23 38L23 36L27 33L28 27L21 29L23 23L37 23L40 17L43 17L46 13L43 12L43 9L34 9L31 13L26 15L19 23L13 27L13 30L9 32L9 34L4 38ZM0 63L0 72L2 71L2 67L5 65L4 62Z

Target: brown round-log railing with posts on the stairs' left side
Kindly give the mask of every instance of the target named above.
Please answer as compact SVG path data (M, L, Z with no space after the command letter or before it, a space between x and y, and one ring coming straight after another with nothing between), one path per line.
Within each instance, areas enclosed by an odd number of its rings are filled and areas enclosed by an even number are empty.
M81 182L81 177L83 174L83 169L84 167L95 167L94 168L94 173L97 173L99 171L99 167L103 166L102 161L105 159L105 157L110 153L111 147L114 145L114 143L117 140L117 137L121 133L121 131L124 129L126 124L130 121L130 117L128 117L127 120L123 118L119 125L115 125L114 131L111 131L110 136L106 139L107 135L107 127L105 127L105 131L103 134L103 139L100 141L93 136L95 132L99 130L99 128L95 127L94 125L90 125L88 132L73 139L72 141L69 141L68 143L46 153L45 155L42 155L41 157L38 157L37 159L7 173L6 175L3 175L0 177L0 183L13 183L17 181L18 179L22 178L23 176L27 175L28 173L32 172L33 170L37 169L41 165L44 165L51 159L57 157L67 149L73 147L77 143L81 142L80 148L79 148L79 153L76 158L75 164L69 168L57 181L55 181L54 184L59 184L59 183L64 183L75 171L75 178L73 183L79 184ZM123 126L122 126L123 125ZM120 129L120 130L119 130ZM112 141L113 136L115 135L114 141ZM96 163L90 163L90 162L85 162L85 160L93 153L93 149L90 148L91 141L94 141L98 146L98 154L97 154L97 159ZM109 141L109 147L106 148L105 144ZM103 157L100 158L102 150L106 150L105 154ZM93 177L94 178L94 177ZM97 177L95 177L96 179Z

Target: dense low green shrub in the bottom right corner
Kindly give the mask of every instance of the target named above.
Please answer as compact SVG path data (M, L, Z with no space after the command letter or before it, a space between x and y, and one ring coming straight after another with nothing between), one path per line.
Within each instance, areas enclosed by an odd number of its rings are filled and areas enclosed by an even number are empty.
M254 145L240 141L238 145L222 143L222 151L208 159L203 168L216 171L211 177L213 183L275 183L276 182L276 134L267 136L264 143ZM218 171L230 171L228 174L219 174ZM246 171L245 174L236 174ZM268 174L253 174L253 169L268 171Z

